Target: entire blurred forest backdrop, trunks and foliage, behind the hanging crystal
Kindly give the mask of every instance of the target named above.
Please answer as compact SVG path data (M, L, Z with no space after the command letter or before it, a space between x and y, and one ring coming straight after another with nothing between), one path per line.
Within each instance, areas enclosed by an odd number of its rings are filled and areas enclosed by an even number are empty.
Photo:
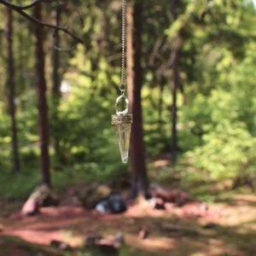
M28 1L0 1L3 199L25 199L42 182L61 191L124 176L132 177L133 196L146 193L148 177L178 177L182 187L255 186L252 1L128 4L135 125L127 166L110 125L120 83L120 1L42 2L49 3L26 10L19 4ZM38 26L24 12L73 34ZM150 160L158 157L170 165L156 171Z

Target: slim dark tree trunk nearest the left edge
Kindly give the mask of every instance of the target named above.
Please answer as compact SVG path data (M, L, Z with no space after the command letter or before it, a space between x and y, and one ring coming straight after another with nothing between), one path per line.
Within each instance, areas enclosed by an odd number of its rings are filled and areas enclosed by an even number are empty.
M7 8L7 37L8 37L8 86L9 86L9 112L12 124L12 144L14 158L14 172L20 172L20 159L18 149L17 126L15 119L15 58L14 58L14 17L13 10Z

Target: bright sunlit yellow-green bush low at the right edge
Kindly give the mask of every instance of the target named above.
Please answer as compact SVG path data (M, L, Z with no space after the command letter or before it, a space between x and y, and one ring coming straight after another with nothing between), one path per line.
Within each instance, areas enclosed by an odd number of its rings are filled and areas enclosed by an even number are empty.
M187 156L193 166L215 181L251 177L256 165L255 146L256 138L249 134L244 125L223 123L204 135L203 145ZM201 177L201 173L198 175Z

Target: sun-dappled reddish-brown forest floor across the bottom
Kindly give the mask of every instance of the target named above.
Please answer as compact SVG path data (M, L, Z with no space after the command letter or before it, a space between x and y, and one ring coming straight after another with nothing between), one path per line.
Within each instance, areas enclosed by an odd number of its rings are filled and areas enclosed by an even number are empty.
M120 256L256 255L253 194L221 193L212 203L170 205L166 210L152 209L144 201L119 215L101 215L66 203L22 217L19 212L7 214L11 207L15 206L2 206L6 211L0 217L0 256L112 255L82 248L90 234L111 239L120 232L125 237L125 246L116 254ZM63 252L49 247L53 240L74 249Z

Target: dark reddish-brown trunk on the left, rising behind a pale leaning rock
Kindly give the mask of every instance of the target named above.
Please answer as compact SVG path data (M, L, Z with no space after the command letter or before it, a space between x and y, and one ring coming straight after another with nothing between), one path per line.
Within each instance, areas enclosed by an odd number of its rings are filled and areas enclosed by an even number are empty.
M42 20L42 8L40 4L34 7L34 17ZM46 81L44 74L44 27L35 25L36 37L36 74L38 88L38 119L41 143L41 172L42 183L50 186L49 173L49 123L48 106L46 100Z

